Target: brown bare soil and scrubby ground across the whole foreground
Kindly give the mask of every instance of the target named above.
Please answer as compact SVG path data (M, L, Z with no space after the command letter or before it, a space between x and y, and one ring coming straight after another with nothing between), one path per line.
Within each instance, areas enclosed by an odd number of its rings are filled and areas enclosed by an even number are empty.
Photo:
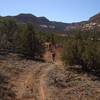
M100 100L100 81L61 63L9 54L0 59L0 100Z

